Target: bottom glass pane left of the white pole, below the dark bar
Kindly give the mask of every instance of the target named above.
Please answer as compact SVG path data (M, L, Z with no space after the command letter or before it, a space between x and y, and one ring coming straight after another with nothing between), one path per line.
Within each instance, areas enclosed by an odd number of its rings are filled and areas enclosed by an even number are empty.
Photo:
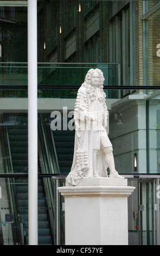
M27 179L0 178L1 245L25 245L27 242Z

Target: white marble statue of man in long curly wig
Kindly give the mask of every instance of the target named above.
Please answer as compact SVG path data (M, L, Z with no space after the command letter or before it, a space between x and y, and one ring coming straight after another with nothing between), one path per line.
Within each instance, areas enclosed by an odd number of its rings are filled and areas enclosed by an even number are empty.
M84 177L124 178L114 166L113 149L107 136L106 94L104 76L99 69L90 69L78 90L75 101L75 143L71 172L66 180L76 186Z

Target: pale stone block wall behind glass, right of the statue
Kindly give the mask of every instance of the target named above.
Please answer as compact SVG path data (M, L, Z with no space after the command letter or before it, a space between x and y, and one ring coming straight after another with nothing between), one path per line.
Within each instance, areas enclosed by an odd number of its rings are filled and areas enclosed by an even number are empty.
M119 173L135 172L134 154L137 153L137 172L146 173L146 102L127 99L113 104L110 112L109 137L116 169Z

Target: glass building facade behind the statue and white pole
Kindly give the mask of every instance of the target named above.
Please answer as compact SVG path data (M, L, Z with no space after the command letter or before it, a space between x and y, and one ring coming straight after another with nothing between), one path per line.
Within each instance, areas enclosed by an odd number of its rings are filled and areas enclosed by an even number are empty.
M0 244L28 245L27 1L0 1ZM159 1L37 0L39 245L65 245L73 111L103 71L116 168L136 186L129 244L159 245ZM54 126L54 127L53 127Z

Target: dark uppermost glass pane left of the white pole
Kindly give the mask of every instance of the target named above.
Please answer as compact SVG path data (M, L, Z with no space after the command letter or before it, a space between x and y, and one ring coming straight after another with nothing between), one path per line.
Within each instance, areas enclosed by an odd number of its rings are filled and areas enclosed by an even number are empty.
M18 70L12 69L12 63L27 62L27 5L25 1L23 3L21 1L19 5L14 2L1 1L0 3L0 44L2 47L0 59L1 62L7 63L6 71L10 76L14 72L18 74Z

